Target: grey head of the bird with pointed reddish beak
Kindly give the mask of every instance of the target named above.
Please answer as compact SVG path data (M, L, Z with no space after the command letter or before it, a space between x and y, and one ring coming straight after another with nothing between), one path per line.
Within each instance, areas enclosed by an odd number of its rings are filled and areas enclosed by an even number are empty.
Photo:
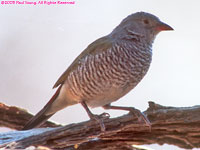
M110 35L114 38L123 38L135 34L145 37L147 42L152 43L155 36L165 30L173 30L173 28L150 13L137 12L122 20Z

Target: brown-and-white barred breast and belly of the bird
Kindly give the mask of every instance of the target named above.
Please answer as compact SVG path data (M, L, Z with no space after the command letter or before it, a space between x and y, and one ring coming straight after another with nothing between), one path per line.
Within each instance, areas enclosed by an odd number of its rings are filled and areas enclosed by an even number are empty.
M146 74L150 62L151 47L116 42L103 52L80 59L65 82L75 101L99 107L133 89Z

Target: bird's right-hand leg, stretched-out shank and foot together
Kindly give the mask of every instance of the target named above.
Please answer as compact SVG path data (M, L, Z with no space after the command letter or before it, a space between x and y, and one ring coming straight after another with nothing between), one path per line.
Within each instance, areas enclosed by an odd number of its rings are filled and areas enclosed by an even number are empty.
M139 121L143 120L151 131L151 122L149 121L149 119L145 116L144 113L142 113L140 110L134 107L111 106L110 104L107 104L107 105L104 105L103 108L129 111L130 113L134 114L138 118Z

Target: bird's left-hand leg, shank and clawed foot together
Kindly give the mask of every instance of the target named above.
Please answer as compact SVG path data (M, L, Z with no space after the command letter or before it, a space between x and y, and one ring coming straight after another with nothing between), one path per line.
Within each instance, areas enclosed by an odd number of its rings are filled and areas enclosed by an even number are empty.
M88 116L90 117L90 119L91 119L91 120L97 121L97 122L100 124L101 131L105 131L106 128L105 128L105 125L104 125L104 123L103 123L103 119L104 119L104 118L109 118L110 115L109 115L108 113L103 113L103 114L101 114L101 115L94 115L94 114L90 111L90 109L88 108L87 104L86 104L84 101L82 101L81 104L82 104L82 106L85 108L85 110L86 110Z

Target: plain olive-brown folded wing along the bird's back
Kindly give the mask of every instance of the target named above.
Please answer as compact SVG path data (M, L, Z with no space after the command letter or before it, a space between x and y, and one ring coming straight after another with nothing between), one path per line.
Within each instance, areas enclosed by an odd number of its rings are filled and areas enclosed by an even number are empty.
M106 51L112 47L112 40L109 38L109 36L102 37L100 39L97 39L93 43L91 43L69 66L69 68L60 76L60 78L57 80L57 82L54 84L53 88L58 87L60 84L63 84L64 81L67 79L69 73L73 70L76 70L79 62L81 59L83 59L88 54L90 55L96 55L102 51Z

